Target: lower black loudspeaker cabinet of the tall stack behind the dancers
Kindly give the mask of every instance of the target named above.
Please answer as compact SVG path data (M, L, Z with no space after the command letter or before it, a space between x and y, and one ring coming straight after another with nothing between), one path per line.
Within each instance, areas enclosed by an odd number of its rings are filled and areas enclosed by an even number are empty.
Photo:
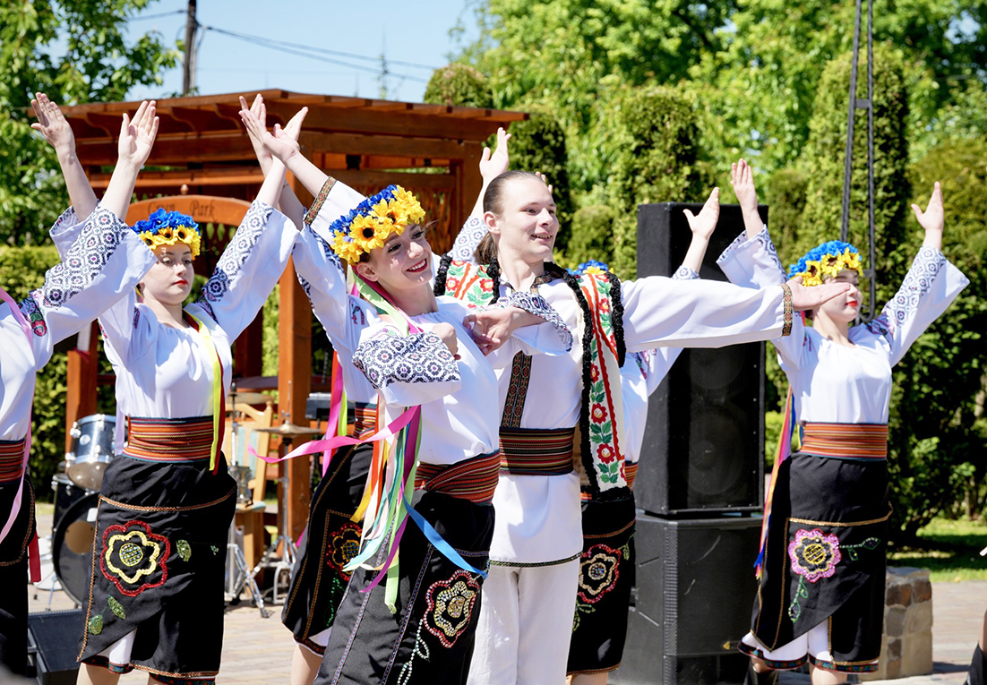
M637 586L615 685L740 685L761 519L638 514Z

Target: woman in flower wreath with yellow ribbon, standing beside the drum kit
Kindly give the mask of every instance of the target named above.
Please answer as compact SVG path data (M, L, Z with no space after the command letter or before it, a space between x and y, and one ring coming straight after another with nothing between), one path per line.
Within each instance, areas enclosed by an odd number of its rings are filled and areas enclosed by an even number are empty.
M289 130L297 130L301 116ZM219 452L230 345L254 320L298 238L273 208L268 174L202 297L183 308L200 235L190 217L158 210L133 227L158 264L100 318L116 372L123 454L107 467L85 602L80 683L212 683L223 635L223 560L236 485ZM117 429L123 421L117 421ZM118 439L117 444L122 444Z

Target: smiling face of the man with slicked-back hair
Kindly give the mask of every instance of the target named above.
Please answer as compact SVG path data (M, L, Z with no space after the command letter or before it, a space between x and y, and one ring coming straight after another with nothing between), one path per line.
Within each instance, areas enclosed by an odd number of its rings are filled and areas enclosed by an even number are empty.
M551 262L559 234L552 191L537 177L524 177L508 181L498 199L484 214L497 253L525 264Z

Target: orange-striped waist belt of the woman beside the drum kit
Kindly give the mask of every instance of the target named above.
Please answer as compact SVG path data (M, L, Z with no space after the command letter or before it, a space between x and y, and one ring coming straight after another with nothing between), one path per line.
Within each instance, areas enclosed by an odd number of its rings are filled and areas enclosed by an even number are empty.
M127 417L123 454L154 462L208 461L212 453L212 417L140 419Z

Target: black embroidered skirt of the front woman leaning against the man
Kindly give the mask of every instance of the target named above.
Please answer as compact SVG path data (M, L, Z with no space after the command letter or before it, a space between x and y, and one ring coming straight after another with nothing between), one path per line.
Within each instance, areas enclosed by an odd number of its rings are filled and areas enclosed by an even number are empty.
M467 562L476 569L487 568L492 504L420 490L413 504ZM316 683L466 682L483 577L463 571L439 554L412 521L401 539L399 556L396 613L384 603L385 582L360 592L378 571L353 573Z

